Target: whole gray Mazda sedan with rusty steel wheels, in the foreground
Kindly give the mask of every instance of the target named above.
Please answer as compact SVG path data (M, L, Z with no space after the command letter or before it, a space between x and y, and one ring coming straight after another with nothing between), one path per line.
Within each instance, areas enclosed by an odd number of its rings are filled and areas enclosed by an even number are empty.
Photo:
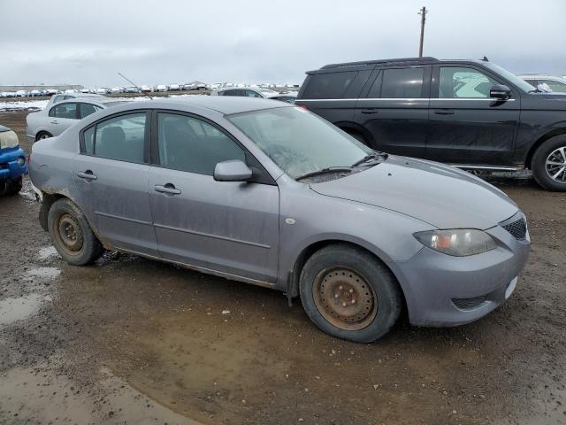
M477 320L515 290L530 247L501 190L265 99L95 112L35 143L30 175L70 264L117 250L281 290L356 342L403 305L419 326Z

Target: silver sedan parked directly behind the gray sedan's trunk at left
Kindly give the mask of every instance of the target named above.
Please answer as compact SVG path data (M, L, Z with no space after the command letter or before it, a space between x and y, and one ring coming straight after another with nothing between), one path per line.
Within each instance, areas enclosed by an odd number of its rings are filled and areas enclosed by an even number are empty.
M34 142L60 135L73 126L77 120L88 117L96 111L126 102L128 101L109 97L80 97L57 103L50 102L42 111L27 114L27 138Z

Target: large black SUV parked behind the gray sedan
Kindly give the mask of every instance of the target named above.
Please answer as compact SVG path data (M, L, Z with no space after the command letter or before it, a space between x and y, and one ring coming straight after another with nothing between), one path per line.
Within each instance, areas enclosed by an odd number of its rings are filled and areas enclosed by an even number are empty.
M566 95L484 60L404 58L323 66L296 100L379 151L466 169L532 168L566 190Z

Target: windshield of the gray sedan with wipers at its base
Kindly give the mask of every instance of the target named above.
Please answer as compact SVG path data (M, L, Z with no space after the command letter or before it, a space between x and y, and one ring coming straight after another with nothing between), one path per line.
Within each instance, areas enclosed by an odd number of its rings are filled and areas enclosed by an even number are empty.
M373 152L340 128L298 107L226 118L294 179L332 166L352 166Z

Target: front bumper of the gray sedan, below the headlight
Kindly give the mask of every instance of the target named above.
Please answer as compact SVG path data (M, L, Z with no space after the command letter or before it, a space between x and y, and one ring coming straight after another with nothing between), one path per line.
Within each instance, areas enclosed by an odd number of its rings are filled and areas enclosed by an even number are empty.
M486 232L498 243L492 251L451 257L423 248L408 261L388 263L401 283L411 324L462 325L509 298L529 256L529 233L520 241L501 226Z

